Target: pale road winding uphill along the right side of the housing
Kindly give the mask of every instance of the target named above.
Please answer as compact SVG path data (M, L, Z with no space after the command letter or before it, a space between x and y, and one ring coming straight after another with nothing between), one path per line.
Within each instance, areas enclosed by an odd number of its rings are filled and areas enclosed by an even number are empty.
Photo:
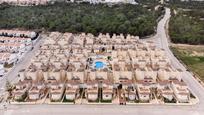
M164 18L158 23L156 44L158 47L163 48L166 51L167 56L171 59L171 63L175 68L179 68L183 71L183 80L187 83L191 91L198 96L200 108L204 108L204 88L203 86L193 77L193 75L186 71L186 68L178 61L169 49L169 42L165 32L165 24L170 18L170 9L166 8L166 14Z

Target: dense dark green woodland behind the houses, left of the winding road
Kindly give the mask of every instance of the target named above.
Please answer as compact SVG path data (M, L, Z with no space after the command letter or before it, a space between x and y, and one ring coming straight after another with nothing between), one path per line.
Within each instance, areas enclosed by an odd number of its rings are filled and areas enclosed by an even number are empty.
M153 7L152 7L153 9ZM0 28L46 29L59 32L123 33L147 36L155 32L161 10L141 5L56 3L47 6L4 6Z

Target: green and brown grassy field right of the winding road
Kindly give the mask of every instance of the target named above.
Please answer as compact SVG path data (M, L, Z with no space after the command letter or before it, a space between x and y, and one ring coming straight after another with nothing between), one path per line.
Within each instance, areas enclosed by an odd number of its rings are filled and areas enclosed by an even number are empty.
M189 70L196 73L204 81L204 46L178 47L173 46L172 51L177 58L183 61Z

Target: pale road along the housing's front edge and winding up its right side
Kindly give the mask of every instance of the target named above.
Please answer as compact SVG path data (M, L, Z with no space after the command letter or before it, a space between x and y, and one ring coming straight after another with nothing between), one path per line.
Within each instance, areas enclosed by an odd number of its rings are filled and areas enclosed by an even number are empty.
M168 47L165 34L165 23L170 18L170 10L166 9L164 18L159 22L155 35L158 47L165 49L172 64L184 71L184 81L199 97L200 103L194 106L165 106L165 105L10 105L7 111L0 110L0 115L204 115L204 88L185 71Z

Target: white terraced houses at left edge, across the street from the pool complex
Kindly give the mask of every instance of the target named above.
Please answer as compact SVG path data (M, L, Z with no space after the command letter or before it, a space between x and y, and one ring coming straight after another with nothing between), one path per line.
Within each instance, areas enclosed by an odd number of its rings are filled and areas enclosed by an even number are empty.
M36 36L30 31L0 30L0 76L32 49Z

